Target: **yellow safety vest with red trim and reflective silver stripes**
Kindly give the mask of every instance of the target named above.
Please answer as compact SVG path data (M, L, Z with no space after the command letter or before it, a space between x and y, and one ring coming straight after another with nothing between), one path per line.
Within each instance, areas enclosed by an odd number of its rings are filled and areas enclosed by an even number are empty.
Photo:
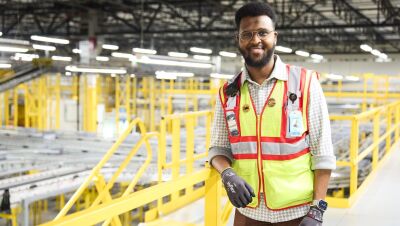
M276 80L260 115L240 74L220 89L234 157L232 167L256 193L247 207L259 205L260 192L271 210L305 205L313 199L307 112L311 76L318 75L300 67L286 68L288 81ZM227 93L235 86L237 92ZM296 94L295 101L289 99L291 93ZM302 115L303 132L299 136L289 133L288 114L292 110Z

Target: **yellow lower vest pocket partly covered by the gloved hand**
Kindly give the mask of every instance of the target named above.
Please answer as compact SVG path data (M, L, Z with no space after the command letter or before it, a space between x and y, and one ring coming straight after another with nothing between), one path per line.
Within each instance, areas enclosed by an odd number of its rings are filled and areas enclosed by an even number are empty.
M240 159L235 160L232 164L238 176L243 178L254 190L258 196L258 173L257 173L257 160L255 159ZM253 197L248 206L256 207L258 205L258 197Z

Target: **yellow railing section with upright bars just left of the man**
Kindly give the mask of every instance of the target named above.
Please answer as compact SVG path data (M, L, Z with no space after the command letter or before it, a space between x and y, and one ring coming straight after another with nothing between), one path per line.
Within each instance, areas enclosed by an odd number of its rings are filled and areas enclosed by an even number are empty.
M195 154L195 139L199 134L195 134L195 128L200 120L204 119L205 137L204 137L204 152ZM186 174L194 171L194 163L196 160L204 159L208 155L208 148L210 146L210 133L211 133L211 111L198 111L188 112L174 115L166 115L162 118L160 124L160 140L158 146L158 182L163 181L163 173L171 170L171 179L175 180L182 176L181 169L185 169ZM171 151L167 150L167 127L171 125L172 147ZM182 127L183 126L183 127ZM182 128L185 128L185 153L186 156L181 156L181 134ZM170 153L170 162L167 162ZM163 199L158 199L157 207L146 213L146 221L153 220L160 215L168 214L176 209L181 208L204 195L204 187L194 188L193 184L185 188L184 195L179 192L171 193L170 200L164 203Z

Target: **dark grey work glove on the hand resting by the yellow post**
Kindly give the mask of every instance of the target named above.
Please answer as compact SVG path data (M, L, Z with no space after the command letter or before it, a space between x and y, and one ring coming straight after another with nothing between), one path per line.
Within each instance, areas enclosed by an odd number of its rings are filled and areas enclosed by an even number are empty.
M246 207L256 197L253 188L241 177L236 175L232 168L227 168L221 173L229 200L235 207Z

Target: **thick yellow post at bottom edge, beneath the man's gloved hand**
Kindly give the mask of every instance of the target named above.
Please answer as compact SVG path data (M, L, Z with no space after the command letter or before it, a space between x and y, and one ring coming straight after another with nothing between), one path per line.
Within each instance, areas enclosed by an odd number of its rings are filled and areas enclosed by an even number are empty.
M211 168L208 166L208 168ZM221 194L222 183L218 172L211 169L210 177L205 182L205 208L204 225L222 226L221 219Z

